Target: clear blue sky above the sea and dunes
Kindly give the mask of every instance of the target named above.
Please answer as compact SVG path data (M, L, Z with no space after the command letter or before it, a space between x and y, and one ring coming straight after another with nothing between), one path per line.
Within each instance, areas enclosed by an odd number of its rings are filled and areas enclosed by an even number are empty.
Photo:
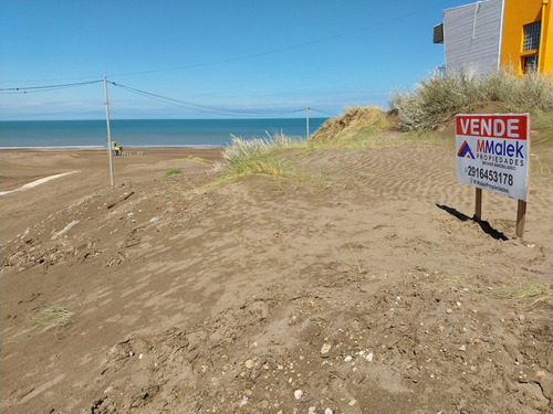
M0 119L335 116L444 64L471 0L0 0ZM145 96L127 86L156 96ZM165 97L175 100L166 100ZM190 105L191 104L191 105Z

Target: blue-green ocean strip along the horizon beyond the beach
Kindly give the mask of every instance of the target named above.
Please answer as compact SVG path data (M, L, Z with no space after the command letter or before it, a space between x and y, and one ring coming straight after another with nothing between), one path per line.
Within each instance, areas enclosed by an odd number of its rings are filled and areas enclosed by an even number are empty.
M313 134L326 118L310 118ZM305 138L306 121L288 119L113 119L112 141L126 147L223 147L242 139L283 132ZM0 149L94 148L107 146L105 119L0 121Z

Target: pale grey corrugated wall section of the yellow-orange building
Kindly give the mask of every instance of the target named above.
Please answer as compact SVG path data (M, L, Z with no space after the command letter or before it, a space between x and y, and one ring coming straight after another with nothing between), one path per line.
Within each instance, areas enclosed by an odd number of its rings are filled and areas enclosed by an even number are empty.
M499 67L503 0L444 10L446 73L486 75Z

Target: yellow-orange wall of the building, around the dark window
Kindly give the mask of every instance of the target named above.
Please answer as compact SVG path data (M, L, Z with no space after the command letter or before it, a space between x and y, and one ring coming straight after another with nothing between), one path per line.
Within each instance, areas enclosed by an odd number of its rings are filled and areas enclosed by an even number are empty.
M522 74L523 25L542 21L538 71L553 72L553 0L504 0L500 63Z

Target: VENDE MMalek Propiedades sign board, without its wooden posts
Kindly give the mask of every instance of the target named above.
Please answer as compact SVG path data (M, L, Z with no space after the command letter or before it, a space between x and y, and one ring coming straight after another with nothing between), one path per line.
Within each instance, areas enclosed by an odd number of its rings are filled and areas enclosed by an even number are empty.
M528 114L457 115L457 181L526 201Z

